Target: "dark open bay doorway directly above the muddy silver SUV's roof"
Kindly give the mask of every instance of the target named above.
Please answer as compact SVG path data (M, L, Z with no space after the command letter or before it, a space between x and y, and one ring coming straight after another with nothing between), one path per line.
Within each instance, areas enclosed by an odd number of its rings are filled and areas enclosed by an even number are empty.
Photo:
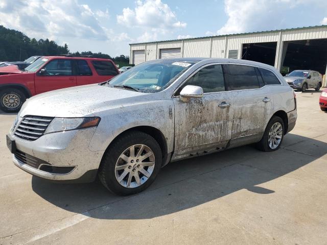
M252 60L275 65L277 42L244 43L242 48L242 60Z

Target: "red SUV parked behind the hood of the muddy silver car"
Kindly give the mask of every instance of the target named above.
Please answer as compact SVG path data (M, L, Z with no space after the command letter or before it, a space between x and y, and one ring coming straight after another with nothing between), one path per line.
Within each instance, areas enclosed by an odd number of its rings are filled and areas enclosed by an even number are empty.
M100 83L119 74L108 59L44 56L19 70L16 65L0 68L0 109L17 112L27 98L79 85Z

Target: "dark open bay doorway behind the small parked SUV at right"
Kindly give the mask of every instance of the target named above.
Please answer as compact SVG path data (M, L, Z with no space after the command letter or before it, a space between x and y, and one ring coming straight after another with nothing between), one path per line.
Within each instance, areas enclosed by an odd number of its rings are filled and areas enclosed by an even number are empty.
M320 74L325 74L326 64L327 39L287 41L283 44L282 73L317 70Z

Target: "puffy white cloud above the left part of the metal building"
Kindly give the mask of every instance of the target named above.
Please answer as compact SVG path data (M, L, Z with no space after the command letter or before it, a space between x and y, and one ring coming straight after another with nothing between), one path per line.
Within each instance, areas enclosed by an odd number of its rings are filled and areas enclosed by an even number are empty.
M117 15L117 22L126 27L139 27L164 33L171 29L186 27L186 23L177 20L176 14L161 0L137 1L134 9L124 8L123 13Z

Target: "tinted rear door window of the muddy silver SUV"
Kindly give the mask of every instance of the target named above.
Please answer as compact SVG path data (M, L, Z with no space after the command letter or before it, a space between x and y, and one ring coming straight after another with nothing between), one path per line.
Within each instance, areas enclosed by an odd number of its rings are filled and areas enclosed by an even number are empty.
M225 65L228 90L259 88L254 67L247 65Z

